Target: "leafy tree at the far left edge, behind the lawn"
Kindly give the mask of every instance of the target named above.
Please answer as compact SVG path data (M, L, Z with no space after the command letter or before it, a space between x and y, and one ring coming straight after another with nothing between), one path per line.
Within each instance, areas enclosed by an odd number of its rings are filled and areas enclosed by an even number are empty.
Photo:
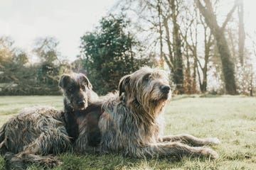
M0 88L4 95L28 94L33 89L33 69L26 67L28 56L26 52L13 47L14 40L11 38L0 38L1 74Z

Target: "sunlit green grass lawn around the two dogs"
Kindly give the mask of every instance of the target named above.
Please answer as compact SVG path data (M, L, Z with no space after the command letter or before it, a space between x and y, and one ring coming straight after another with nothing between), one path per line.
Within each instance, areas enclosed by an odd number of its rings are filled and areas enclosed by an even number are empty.
M23 107L38 104L62 108L61 96L0 96L0 125ZM184 157L181 160L133 159L122 154L58 155L55 169L256 169L256 98L245 96L176 96L166 106L165 134L189 133L218 137L215 160ZM0 169L4 159L0 157ZM29 169L43 169L32 165Z

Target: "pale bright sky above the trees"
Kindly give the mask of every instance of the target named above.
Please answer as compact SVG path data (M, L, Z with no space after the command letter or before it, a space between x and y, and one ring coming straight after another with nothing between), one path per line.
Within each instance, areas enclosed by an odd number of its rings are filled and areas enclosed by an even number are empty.
M15 47L28 52L33 40L54 36L59 51L74 60L79 54L80 37L91 31L117 0L0 0L0 36L9 35ZM233 1L225 0L227 10ZM232 4L231 4L231 3ZM256 1L245 2L245 29L256 30ZM226 13L223 13L225 15ZM237 15L235 13L234 15Z

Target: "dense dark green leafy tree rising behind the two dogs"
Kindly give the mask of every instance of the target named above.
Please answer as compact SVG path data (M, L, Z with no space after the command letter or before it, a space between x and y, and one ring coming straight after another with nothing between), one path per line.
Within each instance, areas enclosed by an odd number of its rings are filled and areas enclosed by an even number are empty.
M149 59L139 57L142 45L127 32L128 24L124 17L110 15L81 37L82 62L99 94L117 89L122 76L149 64Z

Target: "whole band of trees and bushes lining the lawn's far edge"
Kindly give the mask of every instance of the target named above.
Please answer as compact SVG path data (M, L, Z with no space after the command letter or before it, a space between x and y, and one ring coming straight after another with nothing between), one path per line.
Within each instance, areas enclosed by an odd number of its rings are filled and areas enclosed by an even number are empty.
M243 1L124 0L81 35L75 61L58 40L38 38L33 50L0 37L0 95L57 95L64 72L82 72L102 95L143 65L169 72L174 94L254 96L256 43L247 35ZM255 33L256 34L256 33ZM249 43L245 43L249 42Z

